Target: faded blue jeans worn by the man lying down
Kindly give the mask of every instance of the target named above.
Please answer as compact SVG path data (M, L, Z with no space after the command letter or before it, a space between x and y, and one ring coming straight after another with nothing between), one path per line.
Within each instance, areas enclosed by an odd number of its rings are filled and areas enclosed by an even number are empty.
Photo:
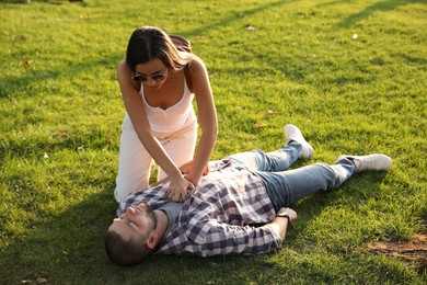
M275 210L314 192L336 189L355 172L355 164L345 158L332 166L315 163L285 171L298 159L301 148L300 144L291 142L268 153L253 150L228 159L244 166L263 181Z

